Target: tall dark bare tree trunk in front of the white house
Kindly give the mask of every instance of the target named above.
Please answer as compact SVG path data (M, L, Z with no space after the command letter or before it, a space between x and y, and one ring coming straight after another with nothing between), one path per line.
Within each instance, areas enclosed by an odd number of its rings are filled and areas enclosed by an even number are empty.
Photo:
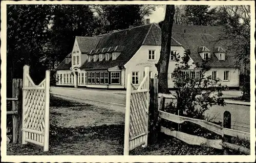
M160 93L169 93L168 91L168 65L170 58L170 41L172 40L172 28L174 22L174 5L166 5L165 18L161 27L162 44L158 63L158 90Z

